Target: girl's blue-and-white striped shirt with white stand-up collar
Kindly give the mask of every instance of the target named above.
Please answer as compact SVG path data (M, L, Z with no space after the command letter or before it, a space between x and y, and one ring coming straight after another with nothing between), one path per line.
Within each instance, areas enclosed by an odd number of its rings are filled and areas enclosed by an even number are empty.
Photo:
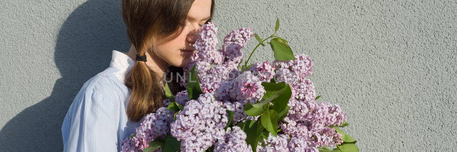
M140 121L126 113L130 89L125 86L134 60L112 51L109 68L90 78L73 100L62 125L64 152L120 151L122 140Z

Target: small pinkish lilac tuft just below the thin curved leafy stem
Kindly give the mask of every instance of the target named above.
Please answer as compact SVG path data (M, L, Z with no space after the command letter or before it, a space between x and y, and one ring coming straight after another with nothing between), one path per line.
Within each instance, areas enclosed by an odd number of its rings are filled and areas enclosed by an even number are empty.
M271 67L270 63L267 62L258 62L254 63L250 68L250 71L255 73L257 77L260 78L262 82L270 82L275 75L274 68Z

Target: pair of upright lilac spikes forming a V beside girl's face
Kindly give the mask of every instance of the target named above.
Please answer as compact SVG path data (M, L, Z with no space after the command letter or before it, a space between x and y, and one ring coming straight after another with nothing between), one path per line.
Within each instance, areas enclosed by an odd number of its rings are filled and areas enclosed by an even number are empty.
M238 64L243 59L241 49L254 36L250 27L233 30L224 37L222 49L217 49L217 30L213 22L202 26L200 37L193 45L196 52L184 68L187 79L188 72L196 65L197 77L205 93L221 88L221 82L239 75ZM181 85L186 86L186 82Z

